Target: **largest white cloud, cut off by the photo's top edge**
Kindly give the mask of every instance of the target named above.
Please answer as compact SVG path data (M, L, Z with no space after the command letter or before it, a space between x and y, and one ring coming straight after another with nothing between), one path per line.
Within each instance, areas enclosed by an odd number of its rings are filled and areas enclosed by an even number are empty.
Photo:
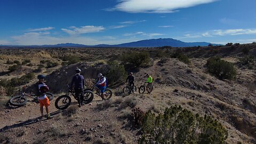
M114 8L107 10L129 13L171 13L178 9L215 1L218 0L121 0Z

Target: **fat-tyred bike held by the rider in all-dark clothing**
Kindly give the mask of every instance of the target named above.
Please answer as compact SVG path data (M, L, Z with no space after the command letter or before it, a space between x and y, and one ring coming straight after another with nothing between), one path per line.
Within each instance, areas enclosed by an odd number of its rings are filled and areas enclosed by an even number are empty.
M55 107L59 110L63 110L69 107L71 104L71 97L69 94L73 95L73 97L78 101L78 105L81 106L83 104L90 103L93 100L94 94L90 90L85 90L84 91L84 99L83 101L80 100L80 98L77 98L75 95L75 91L71 90L69 85L68 85L68 91L66 92L65 95L61 95L55 100Z

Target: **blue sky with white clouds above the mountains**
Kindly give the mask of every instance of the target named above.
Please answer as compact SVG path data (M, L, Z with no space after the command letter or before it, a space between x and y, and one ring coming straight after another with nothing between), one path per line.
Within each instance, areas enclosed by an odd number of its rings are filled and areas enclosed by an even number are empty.
M1 0L0 44L256 41L255 0Z

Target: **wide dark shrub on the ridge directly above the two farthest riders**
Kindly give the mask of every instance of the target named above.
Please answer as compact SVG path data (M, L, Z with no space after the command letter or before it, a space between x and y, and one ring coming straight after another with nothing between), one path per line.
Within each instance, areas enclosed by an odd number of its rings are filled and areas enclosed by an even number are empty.
M150 58L148 52L130 52L123 54L121 58L122 62L125 64L130 64L133 67L141 67L148 65Z

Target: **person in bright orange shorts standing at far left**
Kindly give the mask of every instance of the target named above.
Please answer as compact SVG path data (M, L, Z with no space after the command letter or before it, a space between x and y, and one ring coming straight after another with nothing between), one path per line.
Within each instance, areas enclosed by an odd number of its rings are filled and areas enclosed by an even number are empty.
M50 119L52 118L52 116L50 116L50 113L49 113L50 101L48 97L46 97L46 91L49 90L49 87L44 83L44 78L45 78L44 75L37 76L38 82L36 83L36 95L38 96L37 99L40 103L40 111L42 115L41 118L43 118L44 116L44 107L45 107L47 119Z

